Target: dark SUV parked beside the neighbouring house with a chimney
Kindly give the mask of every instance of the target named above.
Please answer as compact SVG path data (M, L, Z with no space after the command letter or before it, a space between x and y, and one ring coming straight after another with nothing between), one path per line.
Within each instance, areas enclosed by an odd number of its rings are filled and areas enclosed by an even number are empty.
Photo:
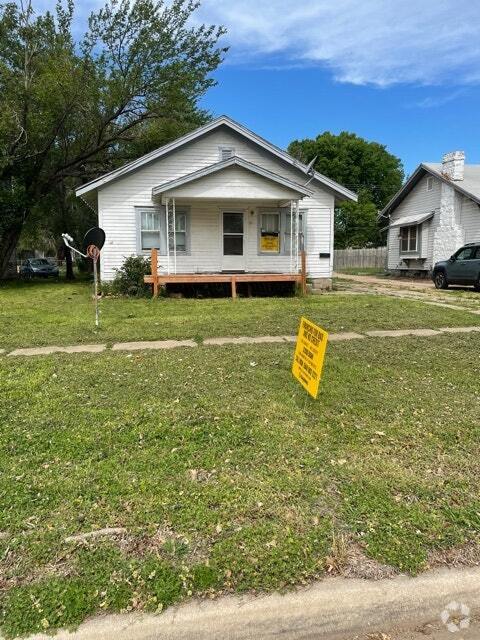
M433 267L432 280L437 289L463 284L480 291L480 242L466 244L448 260L437 262Z

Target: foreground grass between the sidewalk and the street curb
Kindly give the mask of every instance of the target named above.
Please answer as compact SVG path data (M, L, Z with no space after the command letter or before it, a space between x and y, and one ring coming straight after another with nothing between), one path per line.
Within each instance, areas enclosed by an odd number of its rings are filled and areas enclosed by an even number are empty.
M332 343L316 402L292 345L0 359L3 633L302 584L339 540L407 572L478 541L479 349Z

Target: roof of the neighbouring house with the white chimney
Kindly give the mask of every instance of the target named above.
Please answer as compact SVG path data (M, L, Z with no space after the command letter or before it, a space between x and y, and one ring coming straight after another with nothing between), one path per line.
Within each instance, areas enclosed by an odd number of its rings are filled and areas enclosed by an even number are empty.
M381 216L389 215L398 205L408 196L410 191L418 184L418 182L426 175L431 175L437 180L441 180L452 186L458 193L470 198L477 204L480 204L480 165L466 164L464 168L463 180L449 180L442 173L442 164L440 162L422 162L412 173L407 182L400 191L393 196L386 207L380 212Z

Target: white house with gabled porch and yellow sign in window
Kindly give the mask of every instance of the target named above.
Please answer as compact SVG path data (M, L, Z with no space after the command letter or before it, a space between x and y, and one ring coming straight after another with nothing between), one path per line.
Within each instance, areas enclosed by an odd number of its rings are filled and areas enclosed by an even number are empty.
M106 233L101 272L156 247L159 273L298 273L331 283L335 204L356 195L222 116L77 189Z

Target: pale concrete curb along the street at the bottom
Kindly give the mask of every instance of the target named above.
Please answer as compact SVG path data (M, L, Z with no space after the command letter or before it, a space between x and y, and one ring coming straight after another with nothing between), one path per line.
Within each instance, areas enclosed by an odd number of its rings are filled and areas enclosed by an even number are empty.
M455 616L455 606L463 613ZM56 640L341 640L479 637L480 567L442 569L415 578L367 581L332 578L285 595L194 600L160 616L94 618ZM442 621L442 615L443 620ZM448 618L447 618L448 616ZM464 620L461 633L453 623ZM418 631L419 635L411 635ZM408 635L403 635L409 632ZM382 636L382 633L384 634ZM368 636L367 636L368 634ZM375 635L378 634L378 635ZM425 634L425 635L424 635ZM39 634L35 640L49 640Z

